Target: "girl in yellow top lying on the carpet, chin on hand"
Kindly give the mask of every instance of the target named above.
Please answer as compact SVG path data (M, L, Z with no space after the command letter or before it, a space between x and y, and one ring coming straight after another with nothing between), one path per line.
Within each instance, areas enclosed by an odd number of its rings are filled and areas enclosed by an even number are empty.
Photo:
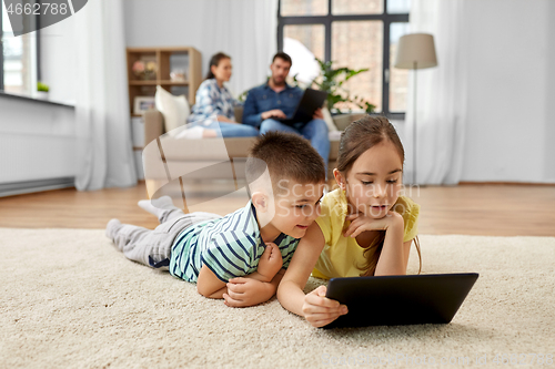
M325 298L325 286L304 295L311 273L325 279L406 274L413 240L420 256L420 206L400 196L403 162L403 145L387 119L365 116L345 130L333 171L339 188L322 199L321 215L278 288L284 308L322 327L347 307Z

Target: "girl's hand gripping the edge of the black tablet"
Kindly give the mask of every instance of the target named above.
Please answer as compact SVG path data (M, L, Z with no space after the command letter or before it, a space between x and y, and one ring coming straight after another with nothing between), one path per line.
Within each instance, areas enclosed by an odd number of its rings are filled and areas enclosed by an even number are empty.
M329 325L349 312L345 305L325 297L326 290L325 286L320 286L304 297L303 315L313 327Z

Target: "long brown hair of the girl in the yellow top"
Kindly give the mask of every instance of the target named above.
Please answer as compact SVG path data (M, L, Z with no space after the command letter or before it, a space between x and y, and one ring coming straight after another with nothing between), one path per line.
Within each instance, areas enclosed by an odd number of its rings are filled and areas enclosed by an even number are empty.
M377 145L383 141L393 143L401 157L401 163L405 162L405 151L398 139L397 132L393 124L385 116L366 115L359 121L351 123L341 134L340 151L337 154L337 171L346 177L354 162L366 150ZM365 247L363 255L366 263L362 266L361 276L373 276L376 270L377 260L382 254L383 244L385 240L385 230L380 230L380 235L371 242L370 246ZM418 237L414 238L414 245L418 253L420 269L422 270L422 255L420 249Z

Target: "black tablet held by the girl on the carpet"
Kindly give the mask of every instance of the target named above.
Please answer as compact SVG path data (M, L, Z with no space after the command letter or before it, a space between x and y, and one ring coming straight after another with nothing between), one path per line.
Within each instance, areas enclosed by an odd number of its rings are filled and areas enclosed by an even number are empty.
M477 278L476 273L332 278L325 296L349 312L323 328L447 324Z

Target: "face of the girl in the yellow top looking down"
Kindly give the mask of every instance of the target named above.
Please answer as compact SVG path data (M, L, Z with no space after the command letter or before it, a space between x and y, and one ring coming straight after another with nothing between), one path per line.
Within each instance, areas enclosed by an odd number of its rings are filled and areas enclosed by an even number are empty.
M393 209L402 189L403 163L389 140L366 150L343 176L333 172L340 187L346 191L350 213L362 213L374 219Z

